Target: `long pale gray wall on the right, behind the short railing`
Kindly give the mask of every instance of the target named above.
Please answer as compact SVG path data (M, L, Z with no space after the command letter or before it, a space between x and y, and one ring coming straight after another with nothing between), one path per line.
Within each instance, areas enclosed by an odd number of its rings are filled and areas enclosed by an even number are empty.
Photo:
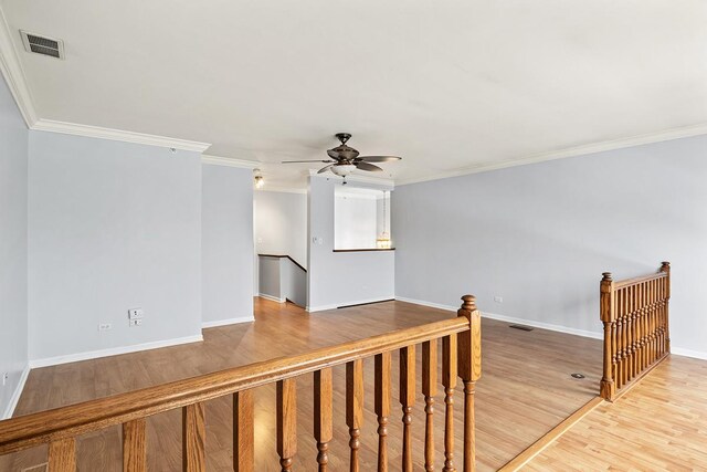
M673 346L705 356L706 179L701 136L398 187L395 295L599 333L601 273L668 260Z

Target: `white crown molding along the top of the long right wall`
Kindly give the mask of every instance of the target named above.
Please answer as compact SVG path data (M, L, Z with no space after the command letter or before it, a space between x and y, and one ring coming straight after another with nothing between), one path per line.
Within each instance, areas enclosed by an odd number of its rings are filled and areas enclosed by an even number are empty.
M610 139L601 143L593 143L583 146L568 147L551 153L535 154L519 159L505 160L502 162L482 162L474 166L462 167L458 169L433 174L425 177L412 179L399 179L395 183L404 186L409 183L425 182L430 180L446 179L450 177L466 176L469 174L486 172L489 170L505 169L508 167L525 166L528 164L544 162L546 160L562 159L566 157L577 157L588 154L603 153L608 150L623 149L626 147L642 146L646 144L655 144L673 139L688 138L693 136L707 135L707 123L700 123L693 126L684 126L680 128L666 129L658 133L650 133L627 138Z

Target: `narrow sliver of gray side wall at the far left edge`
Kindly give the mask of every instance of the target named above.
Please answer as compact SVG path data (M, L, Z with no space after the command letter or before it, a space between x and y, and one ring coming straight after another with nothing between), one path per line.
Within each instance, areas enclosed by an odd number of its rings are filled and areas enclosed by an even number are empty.
M28 129L0 78L0 418L28 365L27 158Z

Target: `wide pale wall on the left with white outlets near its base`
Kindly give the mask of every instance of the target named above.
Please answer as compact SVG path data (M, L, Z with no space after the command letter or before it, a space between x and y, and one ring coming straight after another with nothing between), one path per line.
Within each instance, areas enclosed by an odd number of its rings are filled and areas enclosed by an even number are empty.
M30 132L34 364L200 338L200 159L191 151ZM128 327L127 310L138 306L144 325ZM113 329L99 333L102 322Z

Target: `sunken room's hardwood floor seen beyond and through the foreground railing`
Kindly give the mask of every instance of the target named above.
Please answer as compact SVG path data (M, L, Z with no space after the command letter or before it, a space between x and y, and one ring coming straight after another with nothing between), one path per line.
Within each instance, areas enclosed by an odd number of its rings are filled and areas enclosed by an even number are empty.
M455 314L403 302L307 314L287 304L256 298L252 324L204 331L204 342L144 353L114 356L32 370L17 415L41 411L165 381L192 377L257 360L295 354L393 329L452 317ZM599 323L599 322L598 322ZM440 349L441 350L441 349ZM413 419L413 450L422 466L424 401L420 395L418 352L418 398ZM441 366L441 360L439 363ZM507 323L483 322L484 374L477 385L476 424L478 469L496 470L523 451L563 418L598 394L601 376L601 342L560 333L511 329ZM393 370L397 373L397 356ZM573 379L571 373L585 379ZM390 424L391 470L400 469L402 411L398 403L398 376L393 381L393 415ZM335 368L334 441L331 470L348 469L348 429L345 423L344 368ZM316 469L313 439L312 376L297 379L298 453L295 470ZM373 365L365 363L365 424L361 431L361 470L374 470L377 421L373 413ZM275 389L255 391L256 461L258 471L278 470L275 452ZM462 394L456 399L456 463L461 463ZM435 437L442 445L442 396L435 403ZM207 405L208 469L230 470L231 405L229 399ZM181 466L181 412L158 415L148 420L148 465L154 471L176 471ZM82 471L119 471L120 432L110 428L78 440ZM45 460L38 448L0 459L0 470L20 471ZM443 454L436 453L441 470Z

